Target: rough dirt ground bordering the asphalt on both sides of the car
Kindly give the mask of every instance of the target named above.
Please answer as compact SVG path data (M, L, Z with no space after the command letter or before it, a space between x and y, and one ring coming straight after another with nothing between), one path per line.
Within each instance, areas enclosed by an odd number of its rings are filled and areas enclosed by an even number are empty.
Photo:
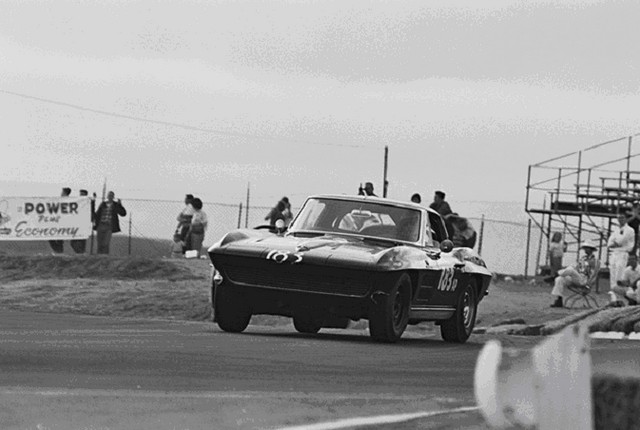
M206 259L0 255L0 307L204 321L211 315L209 276ZM550 291L541 280L496 276L479 305L476 327L514 320L543 324L580 312L550 308ZM606 303L606 294L598 300ZM288 323L279 317L252 319L252 324Z

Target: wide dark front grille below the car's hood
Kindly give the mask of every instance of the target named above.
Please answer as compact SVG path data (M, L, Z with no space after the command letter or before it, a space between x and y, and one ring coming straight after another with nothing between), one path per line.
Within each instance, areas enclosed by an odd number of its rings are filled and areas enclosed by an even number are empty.
M227 257L221 264L231 282L254 287L362 297L371 288L364 271L278 264L256 258Z

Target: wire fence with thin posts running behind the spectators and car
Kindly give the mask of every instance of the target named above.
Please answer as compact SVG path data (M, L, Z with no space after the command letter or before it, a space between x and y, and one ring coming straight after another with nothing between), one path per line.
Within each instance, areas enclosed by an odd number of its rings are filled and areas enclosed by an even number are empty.
M120 219L122 232L114 234L110 254L113 256L143 256L162 258L170 256L177 216L184 208L182 201L171 200L123 200L127 215ZM298 208L292 208L294 214ZM267 224L268 206L246 207L243 203L205 203L203 210L209 219L203 247L207 248L224 234L238 227L253 228ZM490 218L468 218L478 232L475 249L495 273L533 275L545 264L546 237L527 222L512 222ZM94 254L95 237L87 240L86 253ZM0 241L4 253L51 253L47 242ZM65 243L65 254L73 254ZM569 257L567 257L569 258ZM569 264L570 262L565 262Z

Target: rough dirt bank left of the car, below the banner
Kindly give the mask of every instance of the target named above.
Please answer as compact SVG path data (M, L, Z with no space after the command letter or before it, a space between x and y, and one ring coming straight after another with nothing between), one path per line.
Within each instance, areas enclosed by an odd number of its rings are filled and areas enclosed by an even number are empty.
M207 260L0 255L0 306L205 320L209 270Z

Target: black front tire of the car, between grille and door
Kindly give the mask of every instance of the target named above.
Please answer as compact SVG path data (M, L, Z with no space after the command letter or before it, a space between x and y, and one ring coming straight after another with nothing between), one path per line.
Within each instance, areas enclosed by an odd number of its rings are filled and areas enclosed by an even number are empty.
M411 278L402 273L394 278L388 294L377 294L369 315L369 333L377 342L394 343L409 323Z

